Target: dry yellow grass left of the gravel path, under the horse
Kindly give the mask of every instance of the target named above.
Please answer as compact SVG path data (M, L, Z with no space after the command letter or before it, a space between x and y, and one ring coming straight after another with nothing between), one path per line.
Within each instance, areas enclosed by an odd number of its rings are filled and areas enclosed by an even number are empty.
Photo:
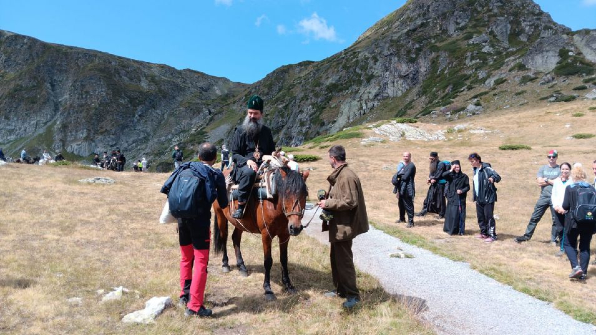
M117 183L78 182L93 176ZM342 311L342 300L322 297L332 289L328 247L305 234L290 240L290 275L299 294L281 294L274 248L278 300L265 302L260 239L247 234L248 278L222 274L220 256L212 255L206 301L215 318L188 319L182 309L170 308L156 324L123 324L123 315L143 308L150 297L177 302L178 235L175 226L157 223L167 175L7 165L0 178L2 334L433 333L365 274L358 275L364 306L354 314ZM114 286L131 292L100 303L96 291ZM82 297L82 305L70 305L70 297Z

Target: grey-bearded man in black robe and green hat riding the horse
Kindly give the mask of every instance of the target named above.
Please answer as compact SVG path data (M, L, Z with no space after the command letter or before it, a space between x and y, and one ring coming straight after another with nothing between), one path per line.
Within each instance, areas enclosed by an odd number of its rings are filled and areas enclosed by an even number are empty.
M263 163L263 155L275 151L271 129L263 125L263 99L253 95L247 103L247 115L241 126L236 128L232 139L232 179L238 184L238 209L232 215L241 219L244 207L249 201L257 170Z

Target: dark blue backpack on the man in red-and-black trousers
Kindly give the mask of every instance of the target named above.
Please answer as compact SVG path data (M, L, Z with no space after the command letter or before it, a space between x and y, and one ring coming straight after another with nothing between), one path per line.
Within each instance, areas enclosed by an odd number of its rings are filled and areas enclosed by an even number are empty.
M191 163L192 164L192 163ZM215 201L215 180L206 166L189 166L181 170L167 195L170 213L177 219L195 219Z

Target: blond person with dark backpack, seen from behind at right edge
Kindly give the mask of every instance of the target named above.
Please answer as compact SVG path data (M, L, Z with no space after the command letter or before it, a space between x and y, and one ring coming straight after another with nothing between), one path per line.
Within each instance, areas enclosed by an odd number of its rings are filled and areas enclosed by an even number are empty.
M586 279L590 260L590 243L596 225L596 190L586 181L581 166L571 170L574 184L565 188L563 209L567 210L563 247L571 264L572 279ZM579 237L579 263L578 263Z

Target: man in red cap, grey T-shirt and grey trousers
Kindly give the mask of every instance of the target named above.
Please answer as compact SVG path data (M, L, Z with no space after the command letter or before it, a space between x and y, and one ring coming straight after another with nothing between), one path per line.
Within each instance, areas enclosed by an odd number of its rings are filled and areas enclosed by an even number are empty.
M538 174L536 175L536 185L541 188L540 197L538 198L538 202L536 202L536 206L534 206L532 216L530 216L530 222L527 224L526 233L514 238L517 243L529 241L530 238L532 238L532 235L536 230L536 225L538 225L538 222L542 219L542 215L544 215L549 207L551 209L552 219L551 244L556 245L557 238L561 237L560 235L562 231L559 231L560 229L557 228L557 218L551 203L552 182L561 175L561 168L557 164L557 157L557 150L548 151L548 164L541 166L538 170Z

